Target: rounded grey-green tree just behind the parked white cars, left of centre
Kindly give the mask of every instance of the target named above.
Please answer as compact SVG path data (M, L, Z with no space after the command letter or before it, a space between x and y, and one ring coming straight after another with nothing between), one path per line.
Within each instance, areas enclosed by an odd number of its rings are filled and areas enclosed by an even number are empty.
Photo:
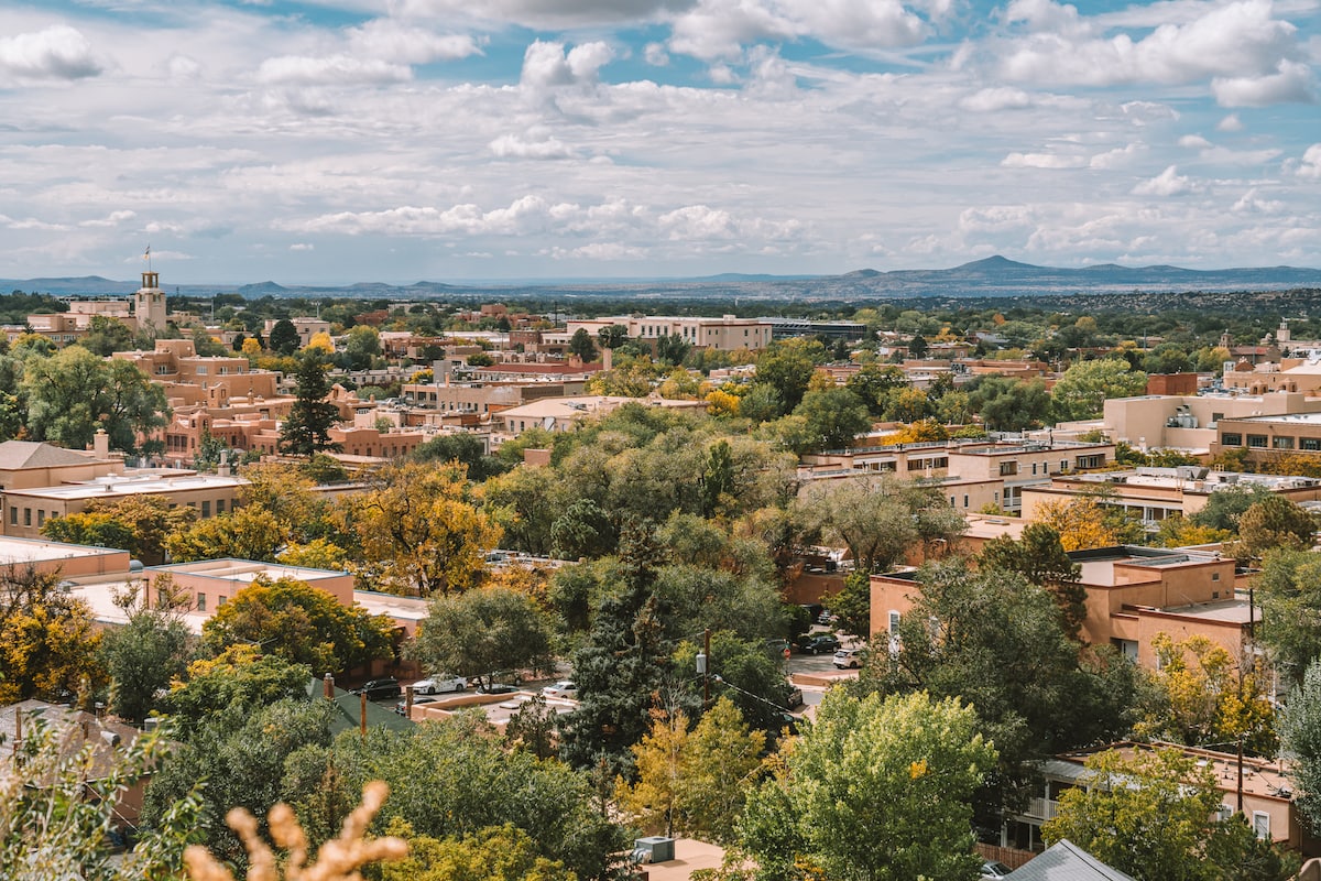
M429 672L486 676L499 670L550 667L551 634L531 597L509 588L437 596L411 647Z

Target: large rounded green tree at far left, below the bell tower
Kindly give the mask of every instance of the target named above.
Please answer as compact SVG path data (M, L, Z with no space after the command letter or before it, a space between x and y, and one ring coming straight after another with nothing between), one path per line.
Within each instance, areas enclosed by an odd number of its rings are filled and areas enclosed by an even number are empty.
M70 449L85 449L96 429L111 449L152 449L149 436L169 417L165 392L132 362L103 359L82 346L50 358L29 358L21 392L28 402L28 432Z

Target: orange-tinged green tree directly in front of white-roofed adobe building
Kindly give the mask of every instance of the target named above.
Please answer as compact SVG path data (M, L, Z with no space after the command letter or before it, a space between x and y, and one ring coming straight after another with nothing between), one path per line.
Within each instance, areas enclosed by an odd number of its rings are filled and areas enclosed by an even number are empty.
M202 643L211 654L256 645L289 663L337 672L390 658L391 630L384 616L346 606L304 581L259 577L206 619Z

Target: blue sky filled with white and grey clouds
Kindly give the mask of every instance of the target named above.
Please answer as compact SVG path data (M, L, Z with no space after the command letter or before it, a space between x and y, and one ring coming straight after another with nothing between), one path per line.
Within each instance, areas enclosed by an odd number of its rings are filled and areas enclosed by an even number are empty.
M5 0L0 277L1321 267L1321 0Z

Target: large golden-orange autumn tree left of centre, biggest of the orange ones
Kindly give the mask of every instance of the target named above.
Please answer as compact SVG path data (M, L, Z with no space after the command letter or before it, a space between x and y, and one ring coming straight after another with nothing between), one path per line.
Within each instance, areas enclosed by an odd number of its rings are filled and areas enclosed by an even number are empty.
M462 465L390 465L371 483L343 507L346 528L362 549L353 564L359 579L423 597L478 582L501 528L469 497Z

